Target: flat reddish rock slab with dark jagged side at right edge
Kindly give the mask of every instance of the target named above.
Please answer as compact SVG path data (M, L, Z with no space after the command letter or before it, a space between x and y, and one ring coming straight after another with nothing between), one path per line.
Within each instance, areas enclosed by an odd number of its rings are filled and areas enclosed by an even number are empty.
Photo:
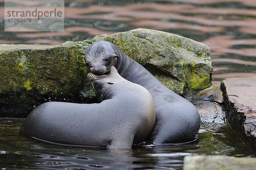
M221 82L227 121L250 150L256 152L256 77Z

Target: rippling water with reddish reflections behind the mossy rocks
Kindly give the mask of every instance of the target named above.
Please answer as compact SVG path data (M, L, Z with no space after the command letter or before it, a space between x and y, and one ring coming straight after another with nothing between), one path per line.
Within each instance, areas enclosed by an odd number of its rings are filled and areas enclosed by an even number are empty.
M191 38L211 49L212 83L256 76L255 0L66 0L64 32L4 32L0 43L61 44L136 28Z

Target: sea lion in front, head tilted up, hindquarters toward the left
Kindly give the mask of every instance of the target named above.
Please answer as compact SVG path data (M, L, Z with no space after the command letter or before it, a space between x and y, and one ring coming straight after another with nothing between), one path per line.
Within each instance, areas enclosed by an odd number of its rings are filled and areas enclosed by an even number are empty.
M155 123L153 99L143 86L110 74L87 77L99 104L47 102L36 107L20 134L54 144L131 148L145 141Z

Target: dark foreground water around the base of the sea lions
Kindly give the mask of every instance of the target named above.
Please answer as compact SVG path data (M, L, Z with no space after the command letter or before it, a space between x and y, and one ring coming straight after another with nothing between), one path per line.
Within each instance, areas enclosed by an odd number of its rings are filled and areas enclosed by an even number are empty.
M23 120L0 120L0 170L182 170L187 155L256 157L225 124L201 124L199 138L181 146L130 150L63 147L19 135Z

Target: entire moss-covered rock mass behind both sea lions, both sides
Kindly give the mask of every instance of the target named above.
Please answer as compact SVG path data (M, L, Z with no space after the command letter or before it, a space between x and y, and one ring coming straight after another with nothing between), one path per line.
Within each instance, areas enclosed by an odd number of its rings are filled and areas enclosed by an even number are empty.
M209 48L194 40L149 29L100 35L58 46L0 45L0 117L26 117L47 101L95 102L83 55L98 40L116 44L174 92L211 84Z

